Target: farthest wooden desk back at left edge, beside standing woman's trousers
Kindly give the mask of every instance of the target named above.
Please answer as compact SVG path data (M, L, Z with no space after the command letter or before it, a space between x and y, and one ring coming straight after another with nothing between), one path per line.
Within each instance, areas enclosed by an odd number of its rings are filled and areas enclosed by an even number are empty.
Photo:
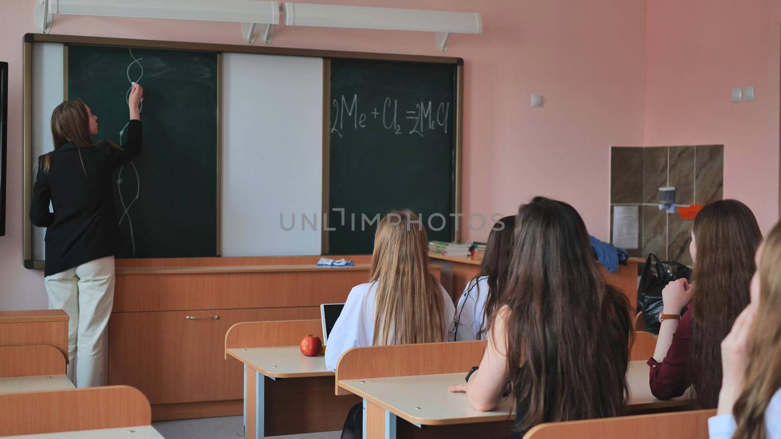
M51 344L68 361L68 314L62 309L0 311L0 346Z

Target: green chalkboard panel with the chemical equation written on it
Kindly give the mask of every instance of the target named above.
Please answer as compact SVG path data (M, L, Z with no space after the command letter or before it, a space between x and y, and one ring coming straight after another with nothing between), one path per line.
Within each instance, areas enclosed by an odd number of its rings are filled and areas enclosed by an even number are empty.
M455 238L456 69L331 60L330 254L372 252L372 219L394 209L416 212L430 240Z

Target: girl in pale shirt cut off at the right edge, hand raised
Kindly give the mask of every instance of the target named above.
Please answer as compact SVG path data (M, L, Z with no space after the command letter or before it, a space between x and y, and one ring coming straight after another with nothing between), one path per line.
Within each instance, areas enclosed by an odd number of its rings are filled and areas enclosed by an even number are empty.
M781 438L781 223L755 258L751 303L722 341L722 388L711 439Z

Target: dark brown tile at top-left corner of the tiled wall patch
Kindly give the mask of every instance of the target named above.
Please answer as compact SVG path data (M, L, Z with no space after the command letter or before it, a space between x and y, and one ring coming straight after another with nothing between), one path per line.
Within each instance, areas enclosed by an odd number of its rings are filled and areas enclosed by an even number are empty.
M610 148L610 202L643 201L643 149Z

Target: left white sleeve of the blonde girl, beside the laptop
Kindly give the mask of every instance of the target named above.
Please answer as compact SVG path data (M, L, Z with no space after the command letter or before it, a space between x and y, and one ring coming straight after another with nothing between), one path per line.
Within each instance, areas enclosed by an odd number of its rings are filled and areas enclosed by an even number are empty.
M345 351L360 346L361 331L364 320L363 294L361 287L353 287L344 302L344 308L328 336L326 346L326 369L335 372L339 357Z

